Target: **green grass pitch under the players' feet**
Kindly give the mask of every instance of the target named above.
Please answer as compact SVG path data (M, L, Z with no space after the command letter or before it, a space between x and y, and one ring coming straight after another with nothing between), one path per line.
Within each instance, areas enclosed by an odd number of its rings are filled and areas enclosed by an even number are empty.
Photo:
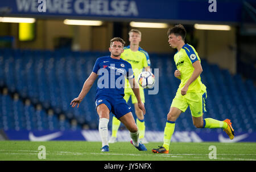
M110 152L101 152L100 142L0 141L0 160L42 161L38 158L38 147L44 145L48 161L209 161L209 146L214 145L218 161L256 161L256 143L171 143L170 154L151 152L161 144L148 143L148 151L138 151L130 143L120 142L110 144Z

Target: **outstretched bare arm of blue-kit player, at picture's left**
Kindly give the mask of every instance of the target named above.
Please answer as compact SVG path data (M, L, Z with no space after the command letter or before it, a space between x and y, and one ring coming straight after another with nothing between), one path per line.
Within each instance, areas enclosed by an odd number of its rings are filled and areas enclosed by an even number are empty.
M80 102L84 99L84 97L86 96L86 94L89 92L90 88L92 87L94 81L97 79L98 75L94 72L92 72L90 74L90 76L88 77L88 79L86 79L86 81L84 82L84 85L82 86L82 90L79 94L78 97L74 98L71 101L72 108L75 108L77 105L77 108L79 108L79 104Z

